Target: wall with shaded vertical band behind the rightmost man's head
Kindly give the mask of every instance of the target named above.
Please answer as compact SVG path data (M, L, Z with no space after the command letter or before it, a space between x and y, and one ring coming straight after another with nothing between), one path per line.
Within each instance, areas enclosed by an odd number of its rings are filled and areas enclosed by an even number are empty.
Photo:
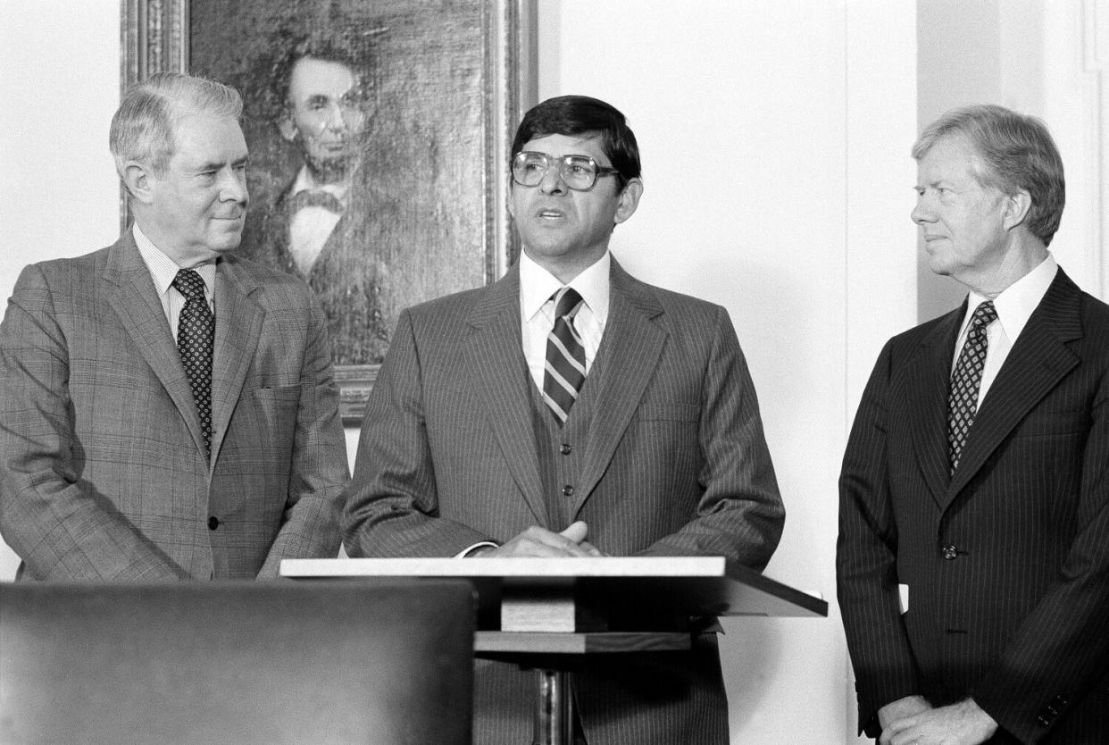
M1067 209L1051 243L1083 290L1109 298L1109 0L917 0L918 124L948 109L998 103L1042 118L1067 175ZM918 251L919 318L966 289L937 276Z

